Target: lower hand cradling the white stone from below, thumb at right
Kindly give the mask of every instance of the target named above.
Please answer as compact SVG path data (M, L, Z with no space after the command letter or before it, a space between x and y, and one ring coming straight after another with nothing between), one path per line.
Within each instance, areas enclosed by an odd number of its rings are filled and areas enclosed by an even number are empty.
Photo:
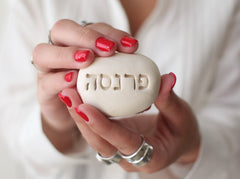
M176 77L163 75L155 105L157 115L136 115L119 121L109 120L96 108L82 104L76 90L63 92L72 102L69 112L88 144L104 157L120 151L131 155L141 145L141 135L153 146L152 159L145 166L135 167L122 160L126 171L159 171L175 161L194 162L198 156L200 136L191 108L173 91ZM75 109L75 110L74 110Z

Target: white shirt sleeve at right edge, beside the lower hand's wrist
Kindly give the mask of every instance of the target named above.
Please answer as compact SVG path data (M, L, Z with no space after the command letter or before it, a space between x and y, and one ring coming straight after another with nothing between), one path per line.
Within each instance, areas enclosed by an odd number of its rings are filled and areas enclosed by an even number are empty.
M186 179L239 178L240 166L240 6L235 7L215 81L197 114L199 157Z

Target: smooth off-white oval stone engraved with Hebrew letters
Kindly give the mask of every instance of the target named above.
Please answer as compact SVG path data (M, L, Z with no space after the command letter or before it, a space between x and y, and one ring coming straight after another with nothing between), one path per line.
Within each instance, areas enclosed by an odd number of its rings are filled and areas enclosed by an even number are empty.
M117 53L81 69L77 89L84 103L122 117L148 108L158 96L160 81L158 67L149 58Z

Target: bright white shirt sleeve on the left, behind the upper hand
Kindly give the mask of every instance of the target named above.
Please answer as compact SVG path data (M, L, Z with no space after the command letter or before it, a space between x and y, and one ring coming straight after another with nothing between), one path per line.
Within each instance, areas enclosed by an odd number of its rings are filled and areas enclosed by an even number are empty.
M89 159L83 140L77 156L66 156L42 130L37 75L31 64L34 46L48 40L47 17L41 8L42 1L14 1L11 5L0 53L0 131L14 157L35 176L57 176L59 171L89 163Z

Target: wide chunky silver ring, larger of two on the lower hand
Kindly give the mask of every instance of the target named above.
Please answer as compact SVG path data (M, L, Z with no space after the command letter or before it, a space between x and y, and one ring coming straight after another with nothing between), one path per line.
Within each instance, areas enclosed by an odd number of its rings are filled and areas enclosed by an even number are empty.
M153 147L147 142L145 142L143 136L141 137L142 144L136 152L131 155L121 154L122 158L124 158L128 161L128 163L131 163L136 167L142 167L146 165L151 160L153 154Z

